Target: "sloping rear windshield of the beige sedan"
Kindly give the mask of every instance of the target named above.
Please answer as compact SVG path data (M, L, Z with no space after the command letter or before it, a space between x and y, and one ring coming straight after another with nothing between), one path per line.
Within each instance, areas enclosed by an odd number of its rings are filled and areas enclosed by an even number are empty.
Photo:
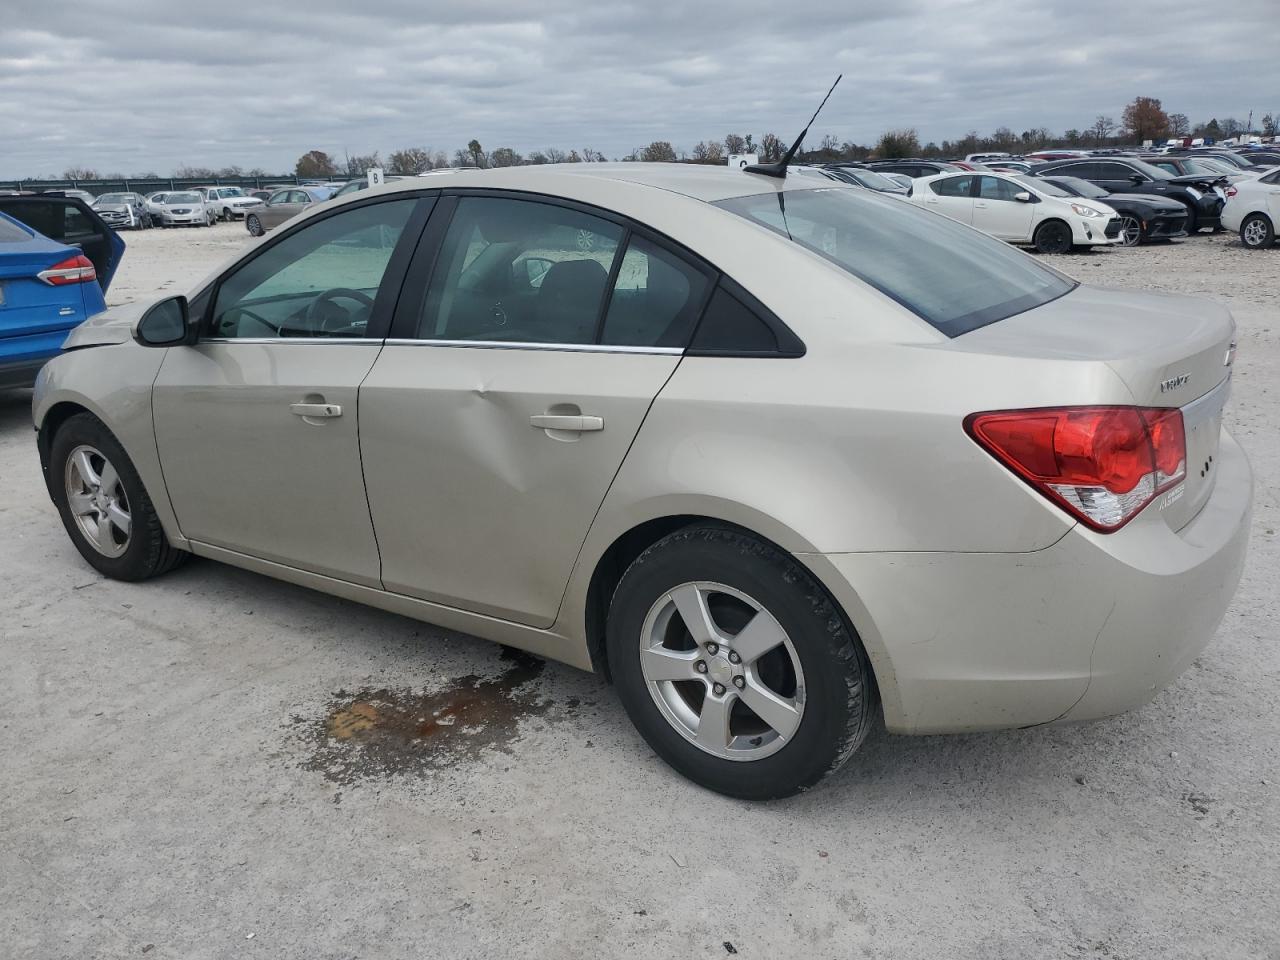
M844 268L947 337L1075 288L1074 280L1001 241L876 193L838 187L786 191L717 206Z

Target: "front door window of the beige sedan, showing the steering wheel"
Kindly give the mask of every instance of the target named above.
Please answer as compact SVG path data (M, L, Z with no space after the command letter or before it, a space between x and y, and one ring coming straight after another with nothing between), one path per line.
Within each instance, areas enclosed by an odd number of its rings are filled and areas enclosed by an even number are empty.
M416 204L408 198L348 209L278 241L223 279L210 335L364 337Z

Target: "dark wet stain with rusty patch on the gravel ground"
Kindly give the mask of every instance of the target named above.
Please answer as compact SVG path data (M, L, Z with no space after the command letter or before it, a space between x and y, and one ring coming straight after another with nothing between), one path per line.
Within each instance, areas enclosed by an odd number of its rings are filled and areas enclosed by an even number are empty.
M506 649L495 677L460 677L430 694L404 689L339 690L324 718L303 724L314 753L302 765L334 783L457 765L485 750L509 751L520 721L571 716L576 699L545 698L534 681L545 663Z

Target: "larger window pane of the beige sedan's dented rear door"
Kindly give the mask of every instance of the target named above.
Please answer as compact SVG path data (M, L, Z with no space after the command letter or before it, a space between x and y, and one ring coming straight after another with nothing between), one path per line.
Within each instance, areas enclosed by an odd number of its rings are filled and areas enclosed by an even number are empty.
M568 207L463 197L422 300L417 335L595 343L622 236L617 224Z

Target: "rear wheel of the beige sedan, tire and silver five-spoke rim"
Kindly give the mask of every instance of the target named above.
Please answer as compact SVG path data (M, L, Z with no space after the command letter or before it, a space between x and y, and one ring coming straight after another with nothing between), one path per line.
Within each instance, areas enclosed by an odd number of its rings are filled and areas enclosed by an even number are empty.
M806 790L872 723L867 654L813 576L719 526L677 530L627 568L609 607L609 667L632 723L708 790Z

